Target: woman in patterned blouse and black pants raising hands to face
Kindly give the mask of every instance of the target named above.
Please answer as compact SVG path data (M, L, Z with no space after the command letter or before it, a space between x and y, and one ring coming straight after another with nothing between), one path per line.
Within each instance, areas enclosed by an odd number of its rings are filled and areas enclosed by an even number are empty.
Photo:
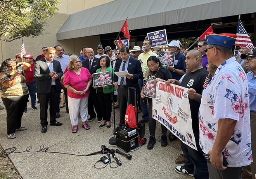
M23 111L28 102L28 87L26 79L17 66L29 67L28 63L18 63L16 59L6 59L0 67L1 98L7 112L7 137L16 138L16 131L27 128L21 126Z

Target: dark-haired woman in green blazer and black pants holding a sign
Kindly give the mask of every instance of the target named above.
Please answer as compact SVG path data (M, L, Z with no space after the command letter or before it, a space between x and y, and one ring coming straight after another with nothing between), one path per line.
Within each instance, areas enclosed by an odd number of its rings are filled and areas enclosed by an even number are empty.
M101 68L96 70L96 73L105 72L105 71L112 71L112 75L114 74L114 69L110 68L110 59L108 56L100 57L100 66ZM113 76L112 76L113 77ZM99 98L100 107L102 111L103 121L100 124L100 127L104 127L107 123L107 128L111 127L110 118L112 112L112 91L116 90L113 85L105 86L102 84L101 87L94 86L96 89L96 93Z

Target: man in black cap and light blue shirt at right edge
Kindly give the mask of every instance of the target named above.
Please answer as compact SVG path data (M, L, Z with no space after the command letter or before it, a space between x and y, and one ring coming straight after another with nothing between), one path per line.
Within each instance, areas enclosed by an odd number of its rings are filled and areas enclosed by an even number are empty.
M251 140L252 140L252 154L253 163L250 166L243 167L245 174L252 176L255 179L256 174L256 49L241 54L244 59L245 67L250 72L246 74L249 85L250 98L250 118L251 118Z

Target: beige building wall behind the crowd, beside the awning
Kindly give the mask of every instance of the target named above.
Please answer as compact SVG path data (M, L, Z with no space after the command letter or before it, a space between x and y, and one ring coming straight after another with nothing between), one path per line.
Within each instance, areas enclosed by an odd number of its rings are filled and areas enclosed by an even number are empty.
M35 58L41 54L42 47L61 45L66 53L80 55L81 47L92 47L96 51L99 36L81 37L76 39L68 39L57 41L56 33L61 28L62 24L67 20L69 14L74 14L81 10L92 8L113 0L60 0L59 11L54 17L48 20L47 25L44 27L43 35L38 37L24 37L24 45L26 54L32 54ZM0 62L7 58L15 58L15 54L21 51L21 39L12 42L0 41ZM97 54L97 52L95 53Z

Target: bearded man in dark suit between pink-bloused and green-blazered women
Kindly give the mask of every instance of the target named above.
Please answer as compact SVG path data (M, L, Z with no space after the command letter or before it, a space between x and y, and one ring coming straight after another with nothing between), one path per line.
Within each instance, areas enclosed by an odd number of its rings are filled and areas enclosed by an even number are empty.
M100 66L100 59L94 57L94 51L92 48L86 49L86 56L88 59L83 61L83 67L87 68L90 71L90 74L96 73L96 70L101 68ZM96 90L93 88L93 83L89 88L90 93L88 96L88 114L90 115L90 118L87 120L88 122L91 122L93 119L97 118L98 122L102 122L102 112L100 109L100 103L98 100L98 96L96 93ZM95 108L96 113L94 112L93 106Z

